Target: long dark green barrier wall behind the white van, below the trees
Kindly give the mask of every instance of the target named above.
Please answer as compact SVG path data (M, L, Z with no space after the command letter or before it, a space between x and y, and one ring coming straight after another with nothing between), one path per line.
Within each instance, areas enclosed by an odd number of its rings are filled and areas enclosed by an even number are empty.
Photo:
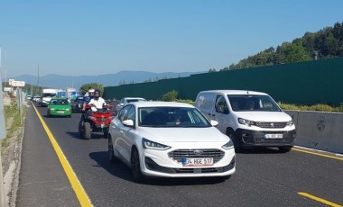
M125 96L139 96L161 100L162 94L176 90L181 99L195 100L203 90L243 89L270 94L276 102L338 105L343 103L342 77L343 58L328 58L108 86L104 97L118 100Z

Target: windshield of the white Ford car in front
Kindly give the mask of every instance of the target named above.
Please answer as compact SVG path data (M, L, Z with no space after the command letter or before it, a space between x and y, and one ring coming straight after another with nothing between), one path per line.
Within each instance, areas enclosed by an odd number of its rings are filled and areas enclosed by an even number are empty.
M210 127L209 121L195 108L144 107L138 110L142 127Z

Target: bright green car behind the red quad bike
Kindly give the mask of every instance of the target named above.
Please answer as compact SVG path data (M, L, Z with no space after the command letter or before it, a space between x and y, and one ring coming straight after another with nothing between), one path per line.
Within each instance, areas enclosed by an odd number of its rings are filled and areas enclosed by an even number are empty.
M51 98L48 104L47 116L68 116L71 117L71 104L67 98Z

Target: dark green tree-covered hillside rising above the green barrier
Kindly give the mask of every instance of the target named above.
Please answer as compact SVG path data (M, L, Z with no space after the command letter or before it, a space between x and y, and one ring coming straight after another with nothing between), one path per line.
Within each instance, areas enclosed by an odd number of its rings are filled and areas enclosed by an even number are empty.
M333 27L326 27L317 32L306 32L301 38L292 42L283 42L276 49L273 47L264 49L220 71L337 57L343 57L343 22L335 23ZM209 72L215 71L216 69L209 70Z

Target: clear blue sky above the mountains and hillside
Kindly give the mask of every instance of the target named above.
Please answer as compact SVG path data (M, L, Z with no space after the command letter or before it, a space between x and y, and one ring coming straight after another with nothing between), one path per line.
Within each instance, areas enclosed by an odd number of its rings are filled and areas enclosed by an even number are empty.
M2 76L221 69L343 22L341 0L0 1Z

